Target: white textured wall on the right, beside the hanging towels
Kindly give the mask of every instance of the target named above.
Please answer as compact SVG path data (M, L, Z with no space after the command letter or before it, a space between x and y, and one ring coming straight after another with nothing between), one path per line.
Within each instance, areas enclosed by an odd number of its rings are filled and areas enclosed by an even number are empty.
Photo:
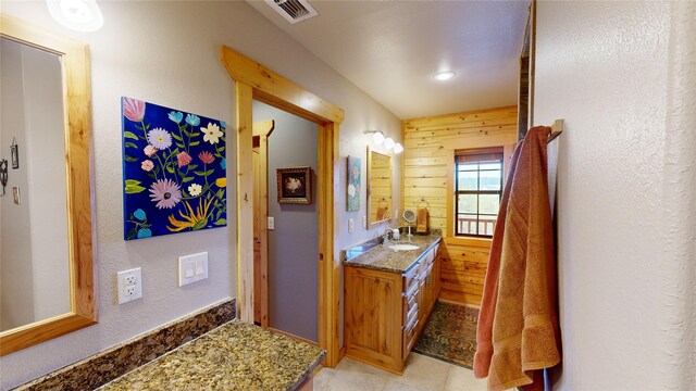
M694 9L538 3L534 118L566 119L558 389L693 388Z

